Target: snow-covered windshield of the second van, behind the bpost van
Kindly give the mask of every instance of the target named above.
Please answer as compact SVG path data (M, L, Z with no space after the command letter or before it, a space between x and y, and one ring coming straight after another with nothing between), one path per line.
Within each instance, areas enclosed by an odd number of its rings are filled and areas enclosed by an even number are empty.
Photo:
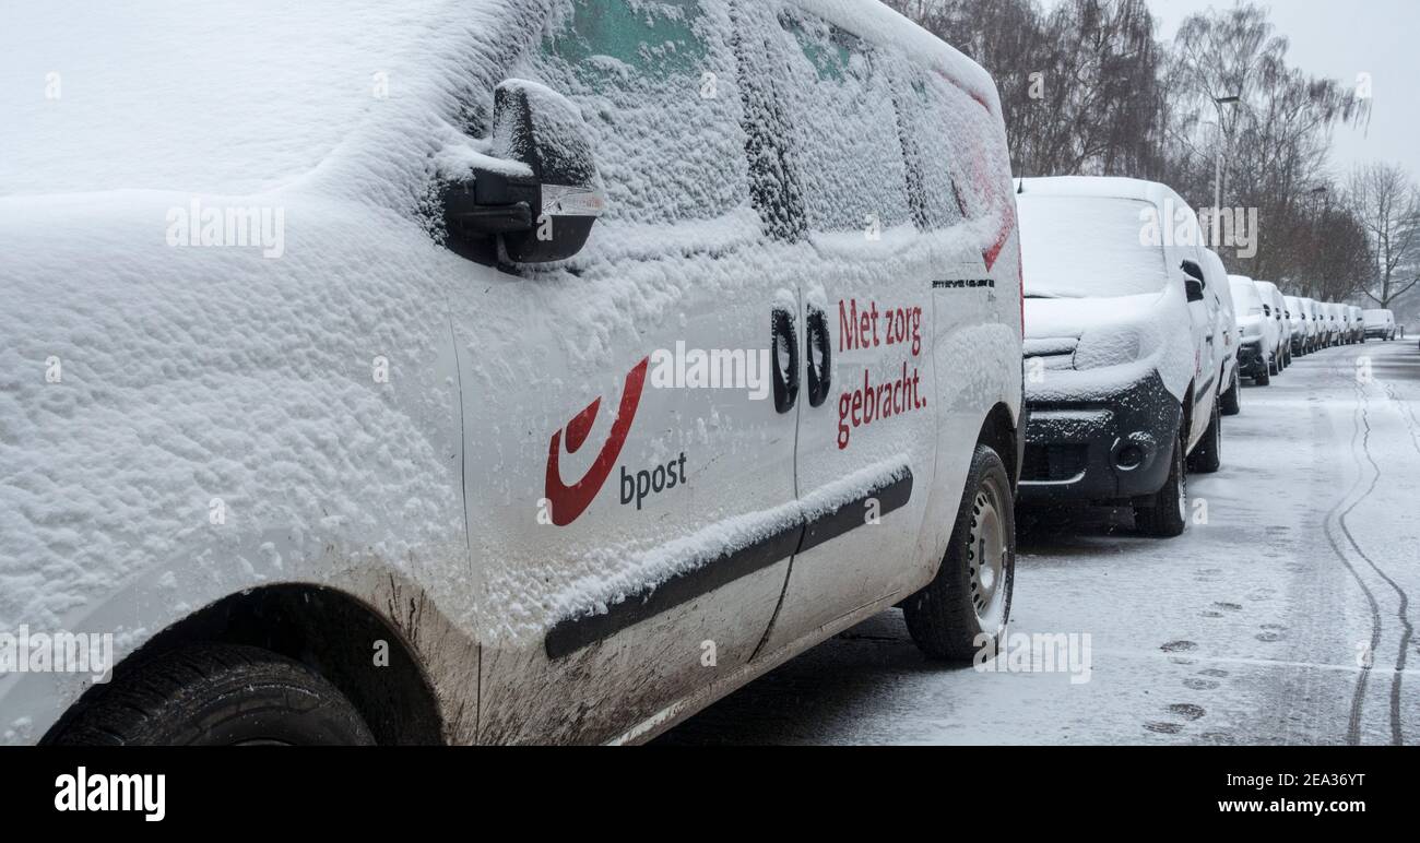
M1109 298L1169 284L1163 246L1145 244L1147 202L1018 196L1027 298Z

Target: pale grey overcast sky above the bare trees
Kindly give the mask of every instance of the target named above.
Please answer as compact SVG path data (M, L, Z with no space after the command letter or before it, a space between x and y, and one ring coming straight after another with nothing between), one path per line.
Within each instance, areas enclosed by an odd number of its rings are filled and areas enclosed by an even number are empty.
M1172 41L1194 11L1227 9L1231 0L1149 0L1160 37ZM1369 132L1336 129L1332 169L1392 160L1420 176L1420 3L1416 0L1277 0L1269 18L1291 41L1288 64L1308 74L1355 84L1373 78Z

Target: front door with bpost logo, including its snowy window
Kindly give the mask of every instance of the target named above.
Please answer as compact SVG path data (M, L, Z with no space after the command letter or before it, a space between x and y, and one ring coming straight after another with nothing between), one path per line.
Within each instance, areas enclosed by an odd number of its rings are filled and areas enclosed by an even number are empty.
M514 75L581 106L606 216L454 324L481 742L616 739L730 681L802 535L775 366L802 315L767 271L728 3L567 9Z

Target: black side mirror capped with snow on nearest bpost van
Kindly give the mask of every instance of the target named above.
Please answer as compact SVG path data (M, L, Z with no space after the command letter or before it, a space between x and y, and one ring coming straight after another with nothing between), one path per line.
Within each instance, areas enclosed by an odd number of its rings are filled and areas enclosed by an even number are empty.
M506 169L473 170L443 196L449 233L497 240L507 260L567 260L606 210L592 139L569 99L537 82L506 79L493 94L491 153Z

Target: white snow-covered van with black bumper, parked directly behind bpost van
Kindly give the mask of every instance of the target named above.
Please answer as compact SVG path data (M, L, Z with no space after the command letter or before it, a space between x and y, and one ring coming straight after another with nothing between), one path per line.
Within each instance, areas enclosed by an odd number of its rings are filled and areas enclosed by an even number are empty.
M1208 351L1200 233L1189 206L1132 179L1025 179L1024 502L1135 507L1186 529L1187 467L1220 460L1224 366Z

